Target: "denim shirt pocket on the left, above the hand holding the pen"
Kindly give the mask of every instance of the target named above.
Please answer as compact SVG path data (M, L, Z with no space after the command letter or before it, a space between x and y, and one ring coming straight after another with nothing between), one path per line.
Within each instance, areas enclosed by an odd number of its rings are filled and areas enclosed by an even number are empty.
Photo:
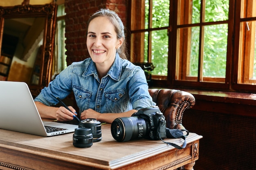
M89 108L92 92L87 91L79 86L74 86L73 91L80 113L83 112L83 110L87 110Z

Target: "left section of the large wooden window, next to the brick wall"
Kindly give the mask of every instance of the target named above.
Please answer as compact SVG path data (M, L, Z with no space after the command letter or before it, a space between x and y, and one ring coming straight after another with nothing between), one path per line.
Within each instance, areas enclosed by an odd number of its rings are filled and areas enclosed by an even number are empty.
M166 79L168 73L169 0L132 1L131 60L154 63L153 75ZM141 11L145 11L141 13ZM137 20L137 16L141 18ZM159 57L161 56L161 57Z

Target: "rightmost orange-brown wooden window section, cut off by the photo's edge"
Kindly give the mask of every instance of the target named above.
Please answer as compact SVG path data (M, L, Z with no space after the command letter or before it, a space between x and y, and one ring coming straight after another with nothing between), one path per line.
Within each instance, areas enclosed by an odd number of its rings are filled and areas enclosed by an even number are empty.
M237 16L239 17L239 16ZM256 83L256 2L242 0L239 22L238 42L238 84Z

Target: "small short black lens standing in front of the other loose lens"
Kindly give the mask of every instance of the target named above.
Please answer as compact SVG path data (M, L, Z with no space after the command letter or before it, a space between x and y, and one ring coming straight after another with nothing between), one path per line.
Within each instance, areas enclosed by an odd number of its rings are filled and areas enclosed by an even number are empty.
M73 135L73 145L77 148L89 148L92 146L92 132L90 128L76 128Z

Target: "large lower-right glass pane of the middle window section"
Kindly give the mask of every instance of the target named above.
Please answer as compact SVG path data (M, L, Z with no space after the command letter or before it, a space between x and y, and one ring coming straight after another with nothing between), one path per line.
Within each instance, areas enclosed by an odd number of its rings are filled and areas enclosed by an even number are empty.
M203 77L225 77L227 30L227 24L204 27Z

